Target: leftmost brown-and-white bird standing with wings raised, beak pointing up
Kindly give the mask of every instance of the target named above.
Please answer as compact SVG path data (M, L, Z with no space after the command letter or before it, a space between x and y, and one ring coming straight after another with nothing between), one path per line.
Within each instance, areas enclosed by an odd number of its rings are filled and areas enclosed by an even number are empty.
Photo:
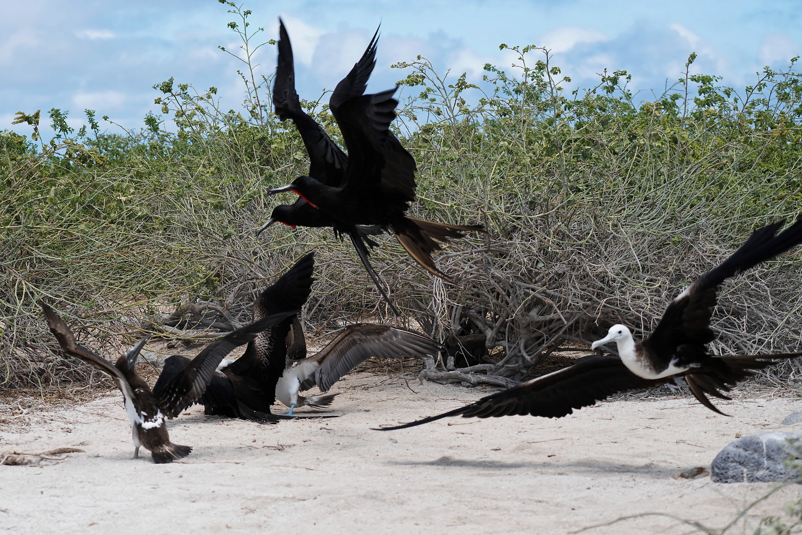
M139 457L140 446L144 446L150 450L153 462L156 464L172 463L173 460L188 456L192 451L189 446L180 446L170 442L167 424L164 422L165 417L173 418L179 415L188 403L203 395L217 364L235 347L253 340L260 330L276 325L288 315L297 312L297 310L293 310L288 313L273 314L234 330L225 337L210 343L184 367L183 371L172 377L170 381L165 381L161 385L157 384L151 391L148 383L145 383L144 379L134 371L136 358L145 342L148 342L149 336L142 338L136 346L126 351L117 359L116 363L112 364L103 357L95 355L86 347L79 346L75 342L75 336L70 327L50 306L43 303L42 309L47 318L47 324L64 353L90 363L114 379L119 391L123 393L125 411L128 412L128 419L131 422L134 459Z

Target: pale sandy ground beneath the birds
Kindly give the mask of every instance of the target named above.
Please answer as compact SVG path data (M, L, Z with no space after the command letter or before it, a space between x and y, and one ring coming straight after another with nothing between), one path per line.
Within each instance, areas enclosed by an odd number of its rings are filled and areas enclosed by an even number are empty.
M333 389L343 392L328 413L338 418L276 425L192 407L168 424L192 454L162 465L144 449L132 460L120 395L49 407L29 425L0 427L0 451L86 453L0 466L0 533L571 533L639 513L720 528L774 485L671 476L708 466L736 433L802 432L780 424L802 409L797 399L720 402L726 418L683 398L600 403L562 419L452 418L371 431L487 393L410 386L415 392L403 380L349 375ZM781 489L728 533L751 533L755 518L799 497L798 485ZM582 533L692 531L647 516Z

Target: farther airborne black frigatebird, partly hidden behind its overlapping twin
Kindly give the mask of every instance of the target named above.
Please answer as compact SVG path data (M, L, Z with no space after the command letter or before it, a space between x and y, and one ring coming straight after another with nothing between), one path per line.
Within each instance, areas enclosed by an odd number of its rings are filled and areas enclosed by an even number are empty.
M348 156L331 140L318 122L303 111L301 99L295 91L295 67L290 36L284 27L284 21L279 18L278 22L278 63L276 78L273 83L273 105L276 109L276 115L282 121L292 120L295 128L298 129L298 133L301 134L301 139L310 160L308 175L319 180L322 184L338 187L342 184L342 178L345 176ZM376 30L362 58L354 64L354 68L350 70L345 79L338 83L334 91L347 91L349 94L358 95L362 95L365 92L367 79L376 64L376 43L378 38L379 30ZM310 205L303 197L298 197L293 205L276 206L273 209L273 213L270 214L270 219L265 225L261 225L257 229L256 235L261 234L273 223L283 223L292 228L296 226L332 227L335 236L342 237L347 235L350 237L350 241L354 244L354 249L359 255L359 260L365 266L367 274L379 290L379 294L390 306L393 314L396 316L401 315L382 285L379 284L379 278L368 259L371 253L367 249L366 243L371 247L377 245L375 241L371 240L370 236L383 233L383 229L380 226L346 225Z

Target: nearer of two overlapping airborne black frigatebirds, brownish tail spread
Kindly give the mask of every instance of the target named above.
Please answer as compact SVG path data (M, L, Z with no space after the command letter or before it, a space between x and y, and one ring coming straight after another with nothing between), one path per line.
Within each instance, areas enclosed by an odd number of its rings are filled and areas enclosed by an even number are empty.
M282 41L284 39L286 30L282 34ZM325 174L311 176L314 167L312 166L310 176L299 176L291 184L271 189L269 193L285 191L298 193L307 205L325 214L327 221L334 222L332 226L335 227L339 225L340 228L347 229L366 225L393 233L407 253L423 268L437 277L450 280L431 259L431 253L440 249L438 241L464 237L462 232L484 232L484 225L445 225L405 215L409 203L415 200L417 166L415 159L390 131L390 124L395 119L395 107L398 104L398 100L392 95L398 87L375 95L364 95L367 79L375 64L375 39L376 36L363 55L363 59L360 59L348 75L338 83L329 101L330 110L337 120L348 150L344 172L340 174L339 171L342 168L342 160L331 156L330 160L336 161L339 166L336 172L329 172L329 168L326 168ZM285 51L289 50L289 39L287 43L287 47L283 49ZM282 47L279 48L279 55L281 68ZM284 64L287 63L286 57L285 55ZM278 79L286 77L277 75ZM278 87L279 102L283 102L281 95L293 95L293 100L298 99L294 90L283 89L288 87L286 84ZM286 101L290 101L290 96L286 96ZM289 114L286 116L290 117ZM319 126L318 132L322 132ZM319 142L319 145L327 147L326 151L317 153L342 154L342 151L328 149L329 146L336 145L327 136L324 138L324 135L325 132L318 133L315 138L310 135L310 140L326 141ZM311 145L312 143L306 144L308 150ZM330 165L330 168L333 167L334 164ZM274 214L271 221L273 219L282 221L281 217L282 214ZM364 234L359 236L365 237ZM356 243L354 246L360 252L360 246ZM365 249L364 245L361 249ZM363 252L360 252L360 257Z

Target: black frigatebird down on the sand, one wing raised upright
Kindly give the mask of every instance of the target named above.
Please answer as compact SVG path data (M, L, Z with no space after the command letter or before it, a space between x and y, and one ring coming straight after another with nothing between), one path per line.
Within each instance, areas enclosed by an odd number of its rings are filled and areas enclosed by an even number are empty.
M263 422L276 422L285 417L271 413L270 406L276 399L276 383L286 367L287 335L294 321L286 312L294 314L309 298L313 271L314 253L309 253L253 302L254 321L272 314L285 314L286 319L257 334L239 359L213 371L209 387L197 399L197 403L205 406L205 414ZM181 355L165 359L155 388L161 383L172 383L188 362L189 359Z

